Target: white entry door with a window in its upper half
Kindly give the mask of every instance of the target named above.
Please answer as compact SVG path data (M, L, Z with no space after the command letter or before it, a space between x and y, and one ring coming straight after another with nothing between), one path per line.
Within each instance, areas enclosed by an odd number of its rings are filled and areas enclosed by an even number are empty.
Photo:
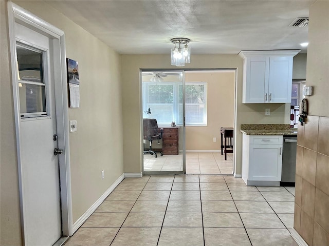
M27 246L62 236L52 39L15 23L21 186Z

